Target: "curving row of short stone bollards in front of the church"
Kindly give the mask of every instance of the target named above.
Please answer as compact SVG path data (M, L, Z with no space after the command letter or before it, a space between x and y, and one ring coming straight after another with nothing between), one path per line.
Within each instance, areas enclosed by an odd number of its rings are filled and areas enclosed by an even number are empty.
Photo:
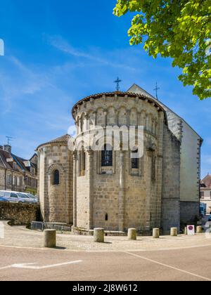
M202 226L198 226L196 228L196 233L200 234L203 232ZM188 229L185 228L184 234L188 235ZM177 237L178 229L171 228L170 231L171 237ZM95 228L94 229L94 242L104 243L105 232L103 228ZM136 228L129 228L128 230L128 240L137 240L137 230ZM160 237L160 229L153 229L153 239L159 239ZM44 247L45 248L56 248L56 230L44 230Z

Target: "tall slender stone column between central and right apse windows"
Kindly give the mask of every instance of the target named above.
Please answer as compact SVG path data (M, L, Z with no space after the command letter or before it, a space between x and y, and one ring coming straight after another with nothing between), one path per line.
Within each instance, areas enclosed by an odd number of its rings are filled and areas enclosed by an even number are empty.
M124 204L125 178L124 178L124 151L120 150L120 191L119 191L119 230L124 231Z

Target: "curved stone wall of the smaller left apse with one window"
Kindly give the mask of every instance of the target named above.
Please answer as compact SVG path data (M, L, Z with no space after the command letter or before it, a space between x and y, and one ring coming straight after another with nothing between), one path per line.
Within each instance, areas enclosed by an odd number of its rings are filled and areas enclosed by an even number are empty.
M46 222L73 222L72 152L66 144L48 144L39 148L39 200ZM59 185L53 185L53 171L58 170Z

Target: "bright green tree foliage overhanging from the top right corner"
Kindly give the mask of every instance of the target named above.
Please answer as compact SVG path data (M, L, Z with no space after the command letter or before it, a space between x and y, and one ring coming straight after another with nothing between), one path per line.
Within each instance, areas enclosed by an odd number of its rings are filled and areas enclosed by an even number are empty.
M211 0L117 0L114 14L136 12L130 44L144 43L153 58L173 59L179 76L201 100L211 97Z

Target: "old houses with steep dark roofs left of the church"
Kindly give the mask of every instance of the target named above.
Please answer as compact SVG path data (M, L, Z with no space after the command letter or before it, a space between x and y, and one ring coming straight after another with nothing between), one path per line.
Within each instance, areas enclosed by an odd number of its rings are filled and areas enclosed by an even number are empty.
M11 145L0 145L0 190L37 194L37 155L23 159L12 153Z

